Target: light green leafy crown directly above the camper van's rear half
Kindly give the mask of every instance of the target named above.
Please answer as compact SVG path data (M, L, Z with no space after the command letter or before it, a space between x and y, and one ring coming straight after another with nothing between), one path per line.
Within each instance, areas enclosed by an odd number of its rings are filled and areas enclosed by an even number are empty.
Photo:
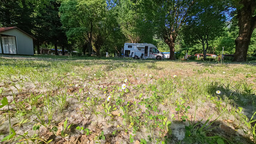
M145 17L143 1L120 0L117 8L121 32L130 43L153 41L153 27Z

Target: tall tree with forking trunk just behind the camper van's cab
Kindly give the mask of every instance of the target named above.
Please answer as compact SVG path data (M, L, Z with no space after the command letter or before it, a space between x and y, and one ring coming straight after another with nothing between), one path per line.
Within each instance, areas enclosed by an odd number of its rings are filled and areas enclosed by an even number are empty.
M150 3L150 1L147 1L147 3ZM180 29L186 23L187 14L194 1L160 0L151 2L151 4L150 7L153 10L153 20L157 35L163 38L165 43L168 44L170 50L169 59L174 60L175 41L177 40Z

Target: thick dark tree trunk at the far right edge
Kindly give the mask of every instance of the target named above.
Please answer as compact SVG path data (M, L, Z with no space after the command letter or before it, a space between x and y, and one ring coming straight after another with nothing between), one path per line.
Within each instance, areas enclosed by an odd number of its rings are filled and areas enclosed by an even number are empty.
M251 41L252 32L256 27L256 16L252 17L255 11L255 0L241 0L243 5L237 10L239 19L239 36L236 38L236 52L233 61L246 61L249 43Z

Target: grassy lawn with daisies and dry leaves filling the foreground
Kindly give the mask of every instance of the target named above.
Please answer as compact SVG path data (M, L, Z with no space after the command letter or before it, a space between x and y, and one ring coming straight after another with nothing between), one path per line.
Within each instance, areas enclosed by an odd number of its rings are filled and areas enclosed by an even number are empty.
M255 62L0 55L0 140L255 143L255 83Z

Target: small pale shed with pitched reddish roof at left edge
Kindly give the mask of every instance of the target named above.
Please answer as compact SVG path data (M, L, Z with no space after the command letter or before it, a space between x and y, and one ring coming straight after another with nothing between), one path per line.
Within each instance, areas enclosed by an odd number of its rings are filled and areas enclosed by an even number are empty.
M16 26L0 28L0 53L34 55L33 39Z

